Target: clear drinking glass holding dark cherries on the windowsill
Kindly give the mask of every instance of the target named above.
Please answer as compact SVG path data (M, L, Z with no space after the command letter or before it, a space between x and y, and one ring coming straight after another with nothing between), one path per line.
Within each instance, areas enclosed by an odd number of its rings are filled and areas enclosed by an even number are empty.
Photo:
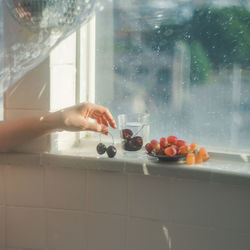
M149 114L134 113L118 115L122 148L138 151L149 140Z

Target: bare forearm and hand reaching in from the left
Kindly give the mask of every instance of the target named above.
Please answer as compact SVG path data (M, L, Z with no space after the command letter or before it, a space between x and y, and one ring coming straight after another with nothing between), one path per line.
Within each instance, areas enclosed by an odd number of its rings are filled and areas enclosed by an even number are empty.
M11 150L55 131L94 131L107 135L109 127L117 128L110 111L84 102L41 117L0 122L0 151Z

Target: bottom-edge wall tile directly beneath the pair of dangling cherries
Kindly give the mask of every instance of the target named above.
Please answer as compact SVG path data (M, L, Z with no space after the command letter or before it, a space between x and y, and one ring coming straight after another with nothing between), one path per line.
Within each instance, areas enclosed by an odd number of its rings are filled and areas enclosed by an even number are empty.
M89 214L87 228L88 250L126 249L126 217Z

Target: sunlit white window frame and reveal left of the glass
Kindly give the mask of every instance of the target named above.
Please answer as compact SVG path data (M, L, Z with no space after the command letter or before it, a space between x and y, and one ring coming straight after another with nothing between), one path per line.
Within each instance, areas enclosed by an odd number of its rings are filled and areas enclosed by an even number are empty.
M51 111L79 104L95 102L95 16L62 41L50 54ZM55 70L59 67L59 70ZM74 69L74 73L72 72ZM60 73L65 74L67 81ZM69 82L68 82L69 81ZM62 83L63 82L63 83ZM62 85L62 88L58 87ZM68 98L62 98L67 92ZM68 100L69 99L69 100ZM53 151L78 146L88 132L60 132L52 135Z

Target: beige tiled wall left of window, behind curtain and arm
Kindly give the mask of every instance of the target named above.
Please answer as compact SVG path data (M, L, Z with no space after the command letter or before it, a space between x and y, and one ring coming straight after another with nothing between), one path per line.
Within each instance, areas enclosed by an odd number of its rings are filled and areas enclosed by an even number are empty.
M19 25L10 16L10 12L6 8L6 5L3 4L3 37L4 47L5 49L9 49L13 44L26 39L25 35L28 36L31 34L29 32L19 32ZM50 110L49 97L50 64L49 59L47 59L24 75L22 79L14 86L9 87L4 93L4 120L15 120L30 116L40 117ZM49 149L50 137L43 136L27 145L17 148L17 151L44 152Z

